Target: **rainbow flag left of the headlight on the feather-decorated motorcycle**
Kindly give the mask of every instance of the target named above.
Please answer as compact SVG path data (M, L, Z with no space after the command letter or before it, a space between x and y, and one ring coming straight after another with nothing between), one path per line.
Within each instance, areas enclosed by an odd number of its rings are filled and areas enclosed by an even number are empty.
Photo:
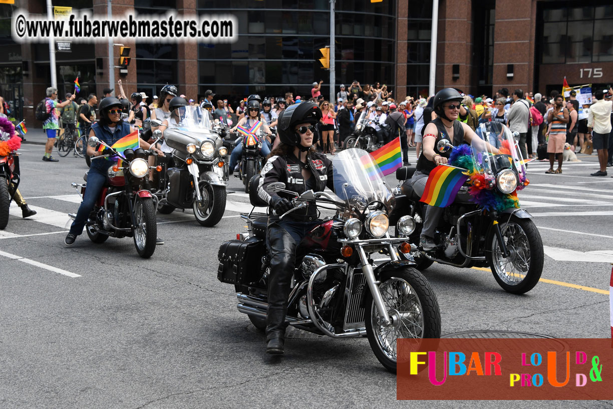
M430 171L424 194L419 201L430 206L447 207L455 199L458 191L468 179L465 169L439 165Z

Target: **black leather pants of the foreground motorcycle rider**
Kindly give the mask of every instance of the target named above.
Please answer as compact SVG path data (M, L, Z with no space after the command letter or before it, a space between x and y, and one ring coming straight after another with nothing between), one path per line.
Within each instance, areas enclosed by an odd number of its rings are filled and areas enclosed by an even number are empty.
M287 297L294 273L296 242L283 227L276 223L268 226L268 251L270 251L270 277L268 277L268 312L266 314L266 338L283 337Z

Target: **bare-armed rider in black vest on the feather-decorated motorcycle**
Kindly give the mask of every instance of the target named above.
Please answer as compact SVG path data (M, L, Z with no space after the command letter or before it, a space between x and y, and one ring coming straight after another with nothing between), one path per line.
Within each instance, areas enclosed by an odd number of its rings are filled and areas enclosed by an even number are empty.
M419 196L424 193L430 171L438 165L446 164L451 155L451 150L436 151L438 141L446 139L452 145L459 146L464 142L470 144L473 137L478 138L468 124L457 121L462 99L462 95L454 88L444 88L434 96L433 107L438 118L428 123L424 129L422 152L417 159L417 170L411 178L413 190ZM420 237L424 251L436 248L433 236L442 214L442 207L426 205L424 227Z

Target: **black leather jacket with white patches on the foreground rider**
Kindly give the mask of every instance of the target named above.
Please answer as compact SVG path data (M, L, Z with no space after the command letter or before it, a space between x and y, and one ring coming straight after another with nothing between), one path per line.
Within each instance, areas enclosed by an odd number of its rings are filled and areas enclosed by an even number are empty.
M305 182L302 177L302 167L307 167L313 174L312 181ZM300 162L293 154L287 156L271 156L268 162L264 165L261 172L260 185L257 188L257 194L270 204L273 196L284 197L291 201L294 196L287 193L268 193L265 186L272 182L283 182L285 188L297 193L303 193L309 189L321 192L326 186L334 189L332 180L332 161L326 158L326 155L320 153L307 154L307 163ZM272 211L272 208L271 208ZM310 204L305 208L289 213L289 217L296 221L312 221L317 218L317 206ZM268 218L269 223L278 220L278 216L272 215Z

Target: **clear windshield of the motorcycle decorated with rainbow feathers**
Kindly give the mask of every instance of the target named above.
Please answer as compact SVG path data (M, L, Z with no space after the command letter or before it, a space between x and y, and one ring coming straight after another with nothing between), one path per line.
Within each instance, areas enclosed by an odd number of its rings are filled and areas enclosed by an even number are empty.
M525 175L524 158L509 128L492 121L480 124L475 133L479 138L473 138L471 147L479 173L495 178L500 170L512 169Z

